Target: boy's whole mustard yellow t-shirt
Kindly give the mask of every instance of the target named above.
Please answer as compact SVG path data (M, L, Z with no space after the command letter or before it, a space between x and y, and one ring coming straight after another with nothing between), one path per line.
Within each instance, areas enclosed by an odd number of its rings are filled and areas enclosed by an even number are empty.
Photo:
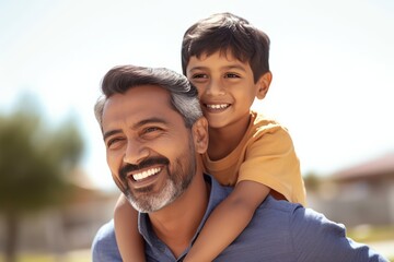
M288 130L273 119L252 111L246 133L236 148L219 160L202 155L208 174L224 186L243 180L264 183L288 201L305 205L300 162Z

